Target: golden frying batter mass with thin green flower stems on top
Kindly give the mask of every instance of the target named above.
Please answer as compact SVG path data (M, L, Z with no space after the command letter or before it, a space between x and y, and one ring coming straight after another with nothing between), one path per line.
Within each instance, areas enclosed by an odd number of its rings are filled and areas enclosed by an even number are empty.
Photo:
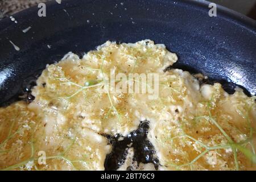
M176 61L163 44L143 40L106 42L82 59L68 53L47 65L32 89L33 102L0 109L0 169L102 170L111 151L102 134L126 136L145 119L159 169L256 169L249 159L255 155L255 97L240 89L229 95L220 84L200 86L180 69L164 72ZM157 73L159 96L111 92L113 70ZM46 164L38 164L40 151ZM127 158L119 169L131 164Z

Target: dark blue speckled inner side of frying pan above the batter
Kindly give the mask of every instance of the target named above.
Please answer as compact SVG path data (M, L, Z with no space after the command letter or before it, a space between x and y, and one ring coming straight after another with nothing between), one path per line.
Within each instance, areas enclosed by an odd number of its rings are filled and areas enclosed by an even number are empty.
M210 17L208 5L185 0L63 0L46 3L46 17L32 7L13 15L17 23L5 18L0 21L0 104L15 100L46 64L69 51L81 56L107 40L166 44L179 56L174 68L203 73L230 87L233 82L256 94L255 21L221 6L217 16Z

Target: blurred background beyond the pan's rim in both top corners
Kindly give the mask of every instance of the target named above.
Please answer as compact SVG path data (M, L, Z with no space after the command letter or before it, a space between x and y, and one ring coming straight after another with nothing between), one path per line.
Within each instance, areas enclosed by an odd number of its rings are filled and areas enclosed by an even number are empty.
M0 0L0 19L49 0ZM72 1L72 0L70 0ZM82 0L81 0L82 1ZM179 0L177 0L179 1ZM191 0L195 1L195 0ZM256 20L256 0L209 0Z

